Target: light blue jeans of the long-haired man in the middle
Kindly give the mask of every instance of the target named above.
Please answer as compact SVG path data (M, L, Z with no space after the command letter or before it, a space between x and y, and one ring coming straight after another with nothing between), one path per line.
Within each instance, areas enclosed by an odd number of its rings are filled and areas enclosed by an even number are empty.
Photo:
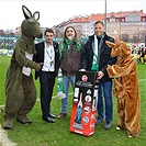
M69 83L71 83L72 89L75 89L76 76L74 76L74 77L63 76L63 81L64 81L64 91L66 93L66 98L61 99L61 113L67 113L67 111L68 111Z

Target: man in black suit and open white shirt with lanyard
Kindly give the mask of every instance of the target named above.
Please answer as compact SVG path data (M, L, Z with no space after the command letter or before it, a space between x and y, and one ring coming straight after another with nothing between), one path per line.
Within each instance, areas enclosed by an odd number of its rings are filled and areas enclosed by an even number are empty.
M35 79L40 77L42 117L48 123L55 123L53 119L56 119L56 115L50 113L50 101L55 77L58 75L59 49L58 43L53 41L54 31L52 29L46 29L44 37L44 42L35 45L37 53L34 55L34 60L43 63L41 71L35 72Z

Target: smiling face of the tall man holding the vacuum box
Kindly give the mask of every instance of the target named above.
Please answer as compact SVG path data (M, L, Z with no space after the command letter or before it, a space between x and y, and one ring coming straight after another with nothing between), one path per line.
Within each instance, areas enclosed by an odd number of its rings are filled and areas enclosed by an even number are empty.
M97 23L94 25L94 34L97 36L102 36L103 32L104 32L104 26L101 23Z

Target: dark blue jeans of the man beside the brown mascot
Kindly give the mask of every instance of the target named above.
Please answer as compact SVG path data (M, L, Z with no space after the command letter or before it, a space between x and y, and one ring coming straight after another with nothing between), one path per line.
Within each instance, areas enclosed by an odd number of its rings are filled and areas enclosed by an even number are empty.
M105 102L105 121L112 122L112 81L100 82L98 92L98 114L101 117L103 115L103 97Z

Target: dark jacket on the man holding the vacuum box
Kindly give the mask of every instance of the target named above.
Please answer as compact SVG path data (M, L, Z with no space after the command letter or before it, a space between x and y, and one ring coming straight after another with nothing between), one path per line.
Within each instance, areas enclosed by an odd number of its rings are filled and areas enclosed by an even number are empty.
M100 80L101 82L109 81L106 67L108 65L113 65L116 61L116 58L111 57L111 48L105 44L105 41L114 42L114 38L108 36L106 34L101 40L101 45L99 46L99 70L101 70L104 76ZM81 68L91 71L92 59L93 59L93 47L94 47L94 35L89 36L89 40L83 46L82 56L81 56Z

